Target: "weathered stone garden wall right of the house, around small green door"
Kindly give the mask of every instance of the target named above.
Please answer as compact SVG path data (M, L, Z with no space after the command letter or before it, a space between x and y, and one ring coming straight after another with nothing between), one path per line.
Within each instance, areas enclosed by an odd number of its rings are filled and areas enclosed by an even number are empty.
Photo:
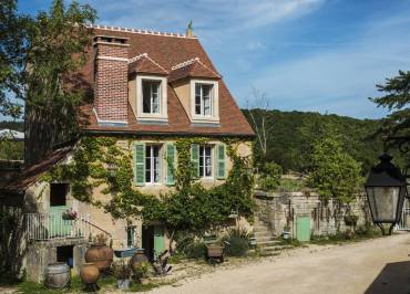
M345 216L349 210L347 206L338 208L332 201L326 203L314 192L256 192L255 199L258 204L256 216L269 225L276 237L281 235L287 224L293 237L296 237L298 217L310 217L312 235L335 234L351 229L345 223ZM358 217L357 227L370 221L365 196L359 196L349 206L351 213Z

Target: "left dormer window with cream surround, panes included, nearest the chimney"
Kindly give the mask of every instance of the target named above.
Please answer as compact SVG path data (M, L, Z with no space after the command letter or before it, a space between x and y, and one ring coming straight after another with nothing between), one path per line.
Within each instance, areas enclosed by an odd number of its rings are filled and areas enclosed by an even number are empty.
M165 76L136 75L136 120L142 124L166 124L167 82Z

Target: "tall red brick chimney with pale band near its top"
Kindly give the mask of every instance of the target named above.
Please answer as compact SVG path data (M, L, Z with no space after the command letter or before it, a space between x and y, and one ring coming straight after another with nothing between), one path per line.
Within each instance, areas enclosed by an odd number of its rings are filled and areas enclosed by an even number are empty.
M127 124L127 38L94 36L94 111L100 125Z

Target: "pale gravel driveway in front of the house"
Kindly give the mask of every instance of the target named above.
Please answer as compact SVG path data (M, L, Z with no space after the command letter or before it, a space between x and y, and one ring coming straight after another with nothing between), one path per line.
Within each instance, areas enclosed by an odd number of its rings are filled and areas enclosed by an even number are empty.
M410 234L331 246L217 269L151 293L410 293Z

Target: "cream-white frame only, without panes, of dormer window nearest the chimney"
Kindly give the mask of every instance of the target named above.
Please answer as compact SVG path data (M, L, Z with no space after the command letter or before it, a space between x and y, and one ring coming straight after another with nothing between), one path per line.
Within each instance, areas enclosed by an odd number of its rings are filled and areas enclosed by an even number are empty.
M160 82L158 99L160 113L144 113L143 109L143 81ZM167 81L166 77L157 75L136 76L136 119L141 122L168 122L167 111Z

